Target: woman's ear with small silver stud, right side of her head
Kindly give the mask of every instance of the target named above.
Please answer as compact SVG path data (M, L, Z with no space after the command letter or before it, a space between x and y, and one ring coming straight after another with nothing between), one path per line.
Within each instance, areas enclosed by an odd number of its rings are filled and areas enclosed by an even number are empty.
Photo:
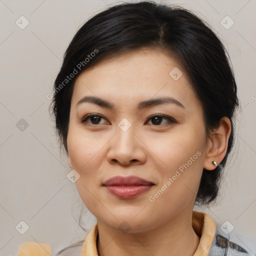
M210 139L206 146L205 160L203 168L207 170L213 170L216 168L212 164L212 161L216 161L219 164L227 150L228 138L231 132L231 122L229 118L222 117L219 122L219 126L213 130Z

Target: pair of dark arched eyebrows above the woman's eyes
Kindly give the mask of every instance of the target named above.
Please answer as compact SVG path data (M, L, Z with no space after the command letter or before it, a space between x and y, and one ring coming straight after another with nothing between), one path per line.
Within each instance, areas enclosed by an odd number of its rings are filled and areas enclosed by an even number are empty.
M75 105L75 108L84 102L90 102L90 103L94 103L97 104L99 106L102 107L106 107L106 108L110 108L113 109L114 105L112 103L110 103L109 101L103 99L103 98L99 98L99 97L94 97L94 96L84 96L82 97ZM143 100L140 101L137 104L137 108L140 110L142 108L146 108L146 107L150 107L150 106L155 106L155 105L159 105L159 104L164 104L164 103L172 103L172 104L176 104L177 106L183 107L183 104L181 104L181 102L179 102L177 99L173 98L173 97L158 97L158 98L153 98L153 99L148 99L148 100Z

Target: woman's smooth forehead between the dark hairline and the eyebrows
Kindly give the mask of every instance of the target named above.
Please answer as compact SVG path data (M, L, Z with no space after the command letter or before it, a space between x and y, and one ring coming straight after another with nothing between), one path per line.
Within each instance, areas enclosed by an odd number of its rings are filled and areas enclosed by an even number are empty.
M157 96L174 97L183 105L198 103L178 61L164 51L148 48L105 59L84 70L74 84L73 104L84 95L116 104Z

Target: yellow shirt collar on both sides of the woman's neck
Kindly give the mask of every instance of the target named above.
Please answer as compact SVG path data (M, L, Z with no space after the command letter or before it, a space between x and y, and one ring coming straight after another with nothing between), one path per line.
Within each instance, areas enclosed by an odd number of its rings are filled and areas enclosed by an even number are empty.
M200 236L200 242L193 256L207 256L213 241L216 225L212 218L203 212L193 210L192 227L195 233ZM97 223L89 231L82 248L81 256L96 256L97 253Z

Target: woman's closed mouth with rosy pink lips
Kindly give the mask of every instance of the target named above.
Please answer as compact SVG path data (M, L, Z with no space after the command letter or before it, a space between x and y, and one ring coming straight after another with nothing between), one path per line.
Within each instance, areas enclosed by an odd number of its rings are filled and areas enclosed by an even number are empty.
M114 176L103 183L103 186L115 197L133 198L148 191L154 183L137 176Z

